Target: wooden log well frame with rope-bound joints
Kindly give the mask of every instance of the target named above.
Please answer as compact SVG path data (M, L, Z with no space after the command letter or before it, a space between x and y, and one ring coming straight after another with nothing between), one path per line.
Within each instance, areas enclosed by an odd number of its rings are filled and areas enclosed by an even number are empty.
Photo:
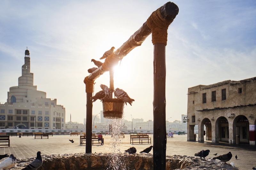
M94 81L104 72L111 70L133 48L138 47L152 33L154 45L154 132L153 163L154 170L166 168L166 127L165 127L165 46L167 29L178 15L176 4L168 2L154 11L147 21L120 48L109 55L97 70L84 78L86 89L86 147L85 153L92 153L92 97ZM110 71L110 77L111 77ZM111 81L111 80L110 80ZM111 83L110 83L111 84ZM111 92L112 87L110 87ZM113 91L112 91L113 92ZM111 92L111 94L112 94ZM112 97L111 97L112 98Z

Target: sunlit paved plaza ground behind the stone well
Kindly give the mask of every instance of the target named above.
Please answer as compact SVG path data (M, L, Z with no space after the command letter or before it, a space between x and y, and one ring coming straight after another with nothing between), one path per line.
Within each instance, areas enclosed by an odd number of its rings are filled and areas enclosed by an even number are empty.
M145 148L153 145L153 135L151 137L151 144L130 144L130 136L125 135L125 138L119 138L116 143L113 137L103 135L104 145L92 145L92 153L109 153L109 152L124 152L124 150L134 146L137 153ZM75 142L71 143L68 139L73 139ZM14 154L17 158L36 157L36 152L41 151L42 155L52 154L74 154L85 153L85 145L79 144L80 136L70 135L53 135L49 139L34 139L34 136L10 137L10 147L1 146L0 154ZM115 144L117 147L113 147ZM255 161L255 146L249 145L230 145L226 143L211 143L211 142L187 142L187 135L174 135L173 138L167 138L166 155L186 155L194 156L194 153L200 150L209 149L211 153L206 158L213 158L214 153L218 155L231 152L233 157L228 163L234 162L235 166L241 170L251 170L256 166ZM153 154L153 150L149 152ZM218 156L217 155L217 156ZM237 155L237 160L235 156Z

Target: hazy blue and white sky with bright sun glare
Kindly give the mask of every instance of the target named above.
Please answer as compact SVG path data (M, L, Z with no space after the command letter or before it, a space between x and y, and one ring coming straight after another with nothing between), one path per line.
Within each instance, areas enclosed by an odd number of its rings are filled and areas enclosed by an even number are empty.
M66 122L84 122L84 78L112 46L119 48L168 1L158 0L1 0L0 102L18 85L26 48L37 90L66 108ZM256 77L256 1L173 1L179 14L168 28L166 119L187 113L188 88ZM134 99L124 119L153 120L151 35L116 66L114 87ZM103 62L103 60L101 61ZM109 86L109 73L95 80ZM92 113L102 110L93 103ZM172 117L172 118L170 118Z

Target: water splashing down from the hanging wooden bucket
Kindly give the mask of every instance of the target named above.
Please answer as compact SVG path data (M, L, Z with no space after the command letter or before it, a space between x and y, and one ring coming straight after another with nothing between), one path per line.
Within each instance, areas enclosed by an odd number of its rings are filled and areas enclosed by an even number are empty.
M127 167L124 165L124 160L121 160L120 156L120 144L122 144L121 139L118 137L118 135L121 133L121 130L123 128L123 119L122 118L116 118L116 119L110 119L109 124L111 126L111 141L110 144L112 147L110 148L110 152L113 153L108 158L108 170L126 170ZM123 151L122 151L123 152ZM129 168L128 168L129 169Z

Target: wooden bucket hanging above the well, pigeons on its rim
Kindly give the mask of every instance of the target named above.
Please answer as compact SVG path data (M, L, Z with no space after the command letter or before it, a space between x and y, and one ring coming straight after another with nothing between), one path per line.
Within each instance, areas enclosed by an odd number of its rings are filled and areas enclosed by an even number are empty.
M124 101L121 99L102 99L104 118L122 118L124 113Z

